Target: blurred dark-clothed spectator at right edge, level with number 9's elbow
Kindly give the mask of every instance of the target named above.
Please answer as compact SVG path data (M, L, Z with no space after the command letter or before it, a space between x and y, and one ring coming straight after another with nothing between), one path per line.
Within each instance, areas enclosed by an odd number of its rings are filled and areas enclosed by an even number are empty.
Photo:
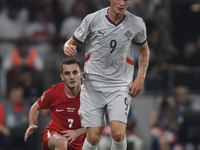
M184 83L190 89L195 90L199 87L197 83L200 80L196 70L199 66L199 58L197 56L195 44L188 42L184 45L183 53L176 53L162 63L164 69L174 71L174 86Z

